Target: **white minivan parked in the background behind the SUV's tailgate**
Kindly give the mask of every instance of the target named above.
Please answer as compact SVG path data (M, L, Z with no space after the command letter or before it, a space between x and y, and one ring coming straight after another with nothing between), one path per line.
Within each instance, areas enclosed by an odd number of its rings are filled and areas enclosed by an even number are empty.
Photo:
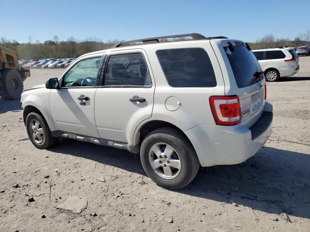
M252 52L262 67L266 81L274 82L299 71L299 58L294 47L258 49Z

